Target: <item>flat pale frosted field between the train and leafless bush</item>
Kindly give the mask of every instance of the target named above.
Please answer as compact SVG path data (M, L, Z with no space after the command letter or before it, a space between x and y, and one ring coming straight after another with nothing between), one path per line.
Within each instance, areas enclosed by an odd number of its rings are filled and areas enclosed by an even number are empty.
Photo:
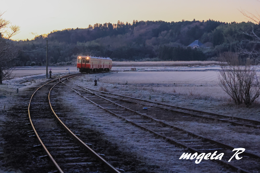
M217 71L114 72L100 81L110 84L196 84L218 85Z

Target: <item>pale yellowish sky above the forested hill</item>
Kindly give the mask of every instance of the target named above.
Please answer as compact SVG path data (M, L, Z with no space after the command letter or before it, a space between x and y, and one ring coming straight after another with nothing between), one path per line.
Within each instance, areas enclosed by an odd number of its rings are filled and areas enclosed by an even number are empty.
M21 27L13 40L33 39L65 28L87 28L95 23L133 23L133 20L219 20L247 22L239 10L260 13L256 0L13 0L2 1L3 18Z

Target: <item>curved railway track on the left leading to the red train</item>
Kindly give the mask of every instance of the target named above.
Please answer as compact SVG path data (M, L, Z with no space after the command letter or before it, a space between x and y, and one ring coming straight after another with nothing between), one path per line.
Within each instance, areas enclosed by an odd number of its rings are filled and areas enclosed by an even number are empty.
M30 137L38 139L40 144L34 147L43 147L46 155L40 156L40 158L49 157L53 163L54 167L50 168L49 172L99 171L119 173L117 169L101 157L102 154L95 153L89 147L91 144L81 141L77 137L79 134L75 130L69 129L65 125L66 122L62 122L62 118L55 113L52 95L62 78L64 77L50 81L38 88L29 102L27 119L30 121L33 130L27 133ZM57 82L53 85L55 81Z

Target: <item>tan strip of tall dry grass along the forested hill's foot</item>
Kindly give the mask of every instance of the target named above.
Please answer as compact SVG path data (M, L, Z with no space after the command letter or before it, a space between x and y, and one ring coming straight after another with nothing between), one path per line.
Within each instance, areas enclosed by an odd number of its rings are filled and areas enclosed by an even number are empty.
M113 66L214 66L218 61L113 61Z

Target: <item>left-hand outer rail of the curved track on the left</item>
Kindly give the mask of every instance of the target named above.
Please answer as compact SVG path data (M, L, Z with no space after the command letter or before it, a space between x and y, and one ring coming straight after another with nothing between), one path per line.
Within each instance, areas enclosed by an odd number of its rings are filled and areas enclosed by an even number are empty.
M75 74L71 74L71 75L75 75ZM70 75L66 75L66 76L70 76ZM66 76L63 76L63 77L66 77ZM62 77L61 77L62 78ZM55 80L58 80L58 79L55 79ZM48 157L50 158L50 160L53 162L54 166L57 168L57 170L60 172L60 173L63 173L63 171L61 170L61 168L59 167L59 165L56 163L56 161L54 160L54 158L51 156L51 154L49 153L49 151L47 150L47 148L45 147L45 145L43 144L42 140L40 139L38 133L36 132L36 129L34 128L34 125L33 125L33 122L31 120L31 115L30 115L30 105L31 105L31 100L33 99L33 96L34 94L38 91L38 89L42 88L43 86L55 81L55 80L52 80L50 82L47 82L46 84L42 85L41 87L37 88L36 91L33 93L33 95L31 96L31 99L29 101L29 105L28 105L28 116L29 116L29 121L30 121L30 124L33 128L33 131L34 131L34 134L35 136L37 137L38 141L40 142L41 146L43 147L44 151L47 153Z

